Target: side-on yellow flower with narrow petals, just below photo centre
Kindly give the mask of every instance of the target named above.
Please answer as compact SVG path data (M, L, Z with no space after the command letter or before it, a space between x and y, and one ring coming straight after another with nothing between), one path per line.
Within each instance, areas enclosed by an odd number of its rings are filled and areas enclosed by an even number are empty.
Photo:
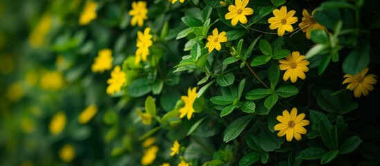
M181 100L185 102L185 106L179 109L179 113L181 113L181 115L179 115L179 118L183 118L187 114L188 120L190 120L192 113L194 113L194 108L192 108L192 103L194 103L194 100L197 98L197 95L198 95L196 91L197 91L197 87L194 87L193 89L189 88L188 96L186 95L181 96Z

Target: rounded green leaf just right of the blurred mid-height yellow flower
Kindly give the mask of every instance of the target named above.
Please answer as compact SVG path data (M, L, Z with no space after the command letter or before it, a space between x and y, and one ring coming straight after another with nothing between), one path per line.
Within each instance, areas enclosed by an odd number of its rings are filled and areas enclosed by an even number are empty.
M128 86L128 94L131 97L138 98L152 91L152 86L147 80L147 77L141 77L134 80Z

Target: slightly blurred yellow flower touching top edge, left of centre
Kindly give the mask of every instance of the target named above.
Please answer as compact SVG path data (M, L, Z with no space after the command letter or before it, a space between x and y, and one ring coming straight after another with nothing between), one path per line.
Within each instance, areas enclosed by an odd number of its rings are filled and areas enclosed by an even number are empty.
M148 19L147 17L147 2L138 1L132 2L132 10L129 10L129 15L132 16L131 25L142 27L144 25L144 19Z

